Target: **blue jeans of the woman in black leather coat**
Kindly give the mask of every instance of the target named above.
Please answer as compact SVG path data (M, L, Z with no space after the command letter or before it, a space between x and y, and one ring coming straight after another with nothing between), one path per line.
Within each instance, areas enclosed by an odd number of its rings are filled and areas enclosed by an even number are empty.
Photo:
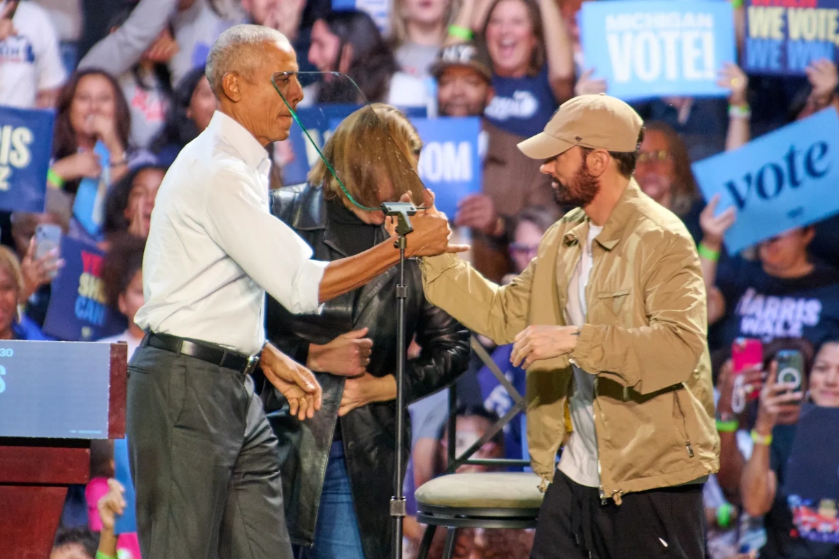
M315 546L304 548L304 559L364 559L358 533L356 510L352 504L350 476L341 441L332 443L320 510L315 525Z

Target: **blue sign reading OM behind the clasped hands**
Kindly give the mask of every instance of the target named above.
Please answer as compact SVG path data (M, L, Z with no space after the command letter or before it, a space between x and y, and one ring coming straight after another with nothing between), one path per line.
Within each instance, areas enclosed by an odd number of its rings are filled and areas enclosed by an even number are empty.
M466 194L481 192L481 119L412 118L411 122L423 143L420 179L434 191L436 208L454 219L457 202Z

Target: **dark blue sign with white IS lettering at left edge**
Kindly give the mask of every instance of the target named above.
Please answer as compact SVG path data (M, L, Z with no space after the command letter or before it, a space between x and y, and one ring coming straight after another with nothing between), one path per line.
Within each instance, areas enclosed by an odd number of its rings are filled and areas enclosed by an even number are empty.
M54 120L52 111L0 106L0 210L44 211Z

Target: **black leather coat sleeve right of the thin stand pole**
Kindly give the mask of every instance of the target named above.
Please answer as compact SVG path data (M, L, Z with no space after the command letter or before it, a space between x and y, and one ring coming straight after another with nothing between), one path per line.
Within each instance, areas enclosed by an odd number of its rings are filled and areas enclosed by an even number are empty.
M416 329L420 356L405 364L405 401L450 386L469 365L469 331L461 323L423 298Z

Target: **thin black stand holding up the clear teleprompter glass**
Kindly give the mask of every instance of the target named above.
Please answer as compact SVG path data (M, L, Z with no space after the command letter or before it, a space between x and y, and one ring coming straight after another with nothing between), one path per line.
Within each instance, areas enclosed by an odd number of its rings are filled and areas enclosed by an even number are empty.
M405 421L405 299L408 298L408 286L405 285L405 248L408 246L408 234L414 230L409 215L415 215L417 209L409 202L384 202L384 215L397 218L397 239L393 246L399 249L399 283L396 284L397 328L396 328L396 476L393 487L393 497L390 499L390 515L394 521L393 529L393 557L402 559L403 522L405 518L405 497L402 492L402 464L404 421Z

